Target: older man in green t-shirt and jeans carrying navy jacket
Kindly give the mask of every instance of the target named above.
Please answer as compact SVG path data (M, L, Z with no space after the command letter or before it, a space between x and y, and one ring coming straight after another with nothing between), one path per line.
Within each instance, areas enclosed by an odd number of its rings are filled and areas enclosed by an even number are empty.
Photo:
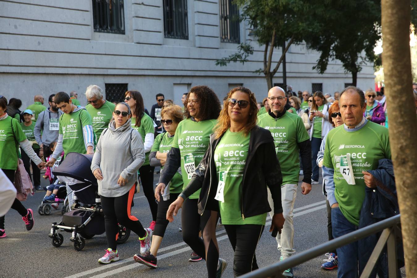
M365 188L376 187L367 171L377 169L380 159L391 158L387 128L363 116L366 109L363 91L353 86L345 88L339 106L344 125L327 134L322 166L327 200L332 208L334 238L358 229ZM337 248L338 277L357 277L358 261L359 269L363 269L359 244Z

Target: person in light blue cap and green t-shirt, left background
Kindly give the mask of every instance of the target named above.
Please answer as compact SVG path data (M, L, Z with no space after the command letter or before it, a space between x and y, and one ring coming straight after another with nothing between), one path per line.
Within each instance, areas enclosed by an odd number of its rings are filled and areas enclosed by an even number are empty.
M26 109L23 111L23 119L25 120L23 123L20 123L22 127L23 133L25 133L26 138L28 138L30 144L32 145L33 151L36 155L39 156L40 146L36 143L35 135L33 134L33 130L35 130L35 123L32 121L32 110ZM29 156L22 150L22 160L23 164L25 165L26 172L30 175L30 164L32 162L32 169L33 169L33 187L36 190L40 190L40 169L36 167L35 162L30 160Z

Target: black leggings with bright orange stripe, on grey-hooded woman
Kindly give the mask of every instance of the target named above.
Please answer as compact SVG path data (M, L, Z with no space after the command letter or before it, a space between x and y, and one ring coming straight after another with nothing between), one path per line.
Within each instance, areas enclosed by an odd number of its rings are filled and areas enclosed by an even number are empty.
M135 216L131 215L131 206L133 195L135 194L136 184L132 186L128 193L119 197L101 196L101 206L104 212L104 224L106 227L106 238L108 248L116 250L116 235L118 225L135 232L140 238L146 235L141 222Z

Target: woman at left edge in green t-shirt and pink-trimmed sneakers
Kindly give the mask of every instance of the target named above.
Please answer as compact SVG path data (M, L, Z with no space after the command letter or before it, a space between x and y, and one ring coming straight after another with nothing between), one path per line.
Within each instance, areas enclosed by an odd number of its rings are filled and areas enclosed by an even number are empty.
M5 113L6 108L7 99L3 97L3 95L0 95L0 169L5 173L8 179L14 183L15 172L18 168L19 145L39 168L45 167L45 162L40 160L33 151L18 120ZM30 208L26 209L17 198L13 201L12 208L22 215L26 230L31 230L34 223L33 211ZM5 236L6 232L4 230L3 215L0 217L0 238L4 238Z

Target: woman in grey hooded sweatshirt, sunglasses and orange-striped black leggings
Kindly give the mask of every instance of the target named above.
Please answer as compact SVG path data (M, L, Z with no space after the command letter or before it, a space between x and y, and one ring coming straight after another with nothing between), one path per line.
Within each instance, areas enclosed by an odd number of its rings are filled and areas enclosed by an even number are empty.
M98 260L99 263L119 260L116 248L118 223L139 236L141 253L148 252L151 247L152 230L144 229L138 218L131 215L138 169L145 160L142 138L131 127L131 115L127 103L116 105L113 119L103 130L91 163L91 171L98 180L108 244L106 254Z

